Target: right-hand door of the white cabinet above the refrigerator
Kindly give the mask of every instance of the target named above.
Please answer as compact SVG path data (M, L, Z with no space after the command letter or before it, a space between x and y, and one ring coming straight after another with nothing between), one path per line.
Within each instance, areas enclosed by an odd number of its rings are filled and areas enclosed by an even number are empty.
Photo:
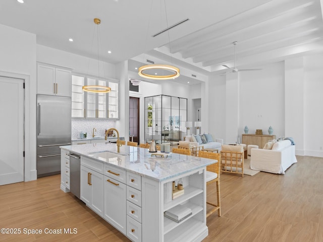
M72 95L72 76L69 70L56 68L56 95L70 97Z

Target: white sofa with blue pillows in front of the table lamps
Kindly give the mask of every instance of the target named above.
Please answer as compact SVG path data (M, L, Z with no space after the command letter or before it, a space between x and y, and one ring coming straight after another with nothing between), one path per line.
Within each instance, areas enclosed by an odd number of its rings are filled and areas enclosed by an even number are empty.
M202 142L196 142L196 140L194 140L192 138L193 135L188 135L185 137L185 141L179 141L179 146L182 147L187 147L187 148L191 148L191 147L198 147L198 150L201 149L218 149L219 153L221 151L221 146L223 145L223 139L213 139L212 136L210 135L206 135L206 137L208 137L208 141L207 143L202 143ZM194 137L194 136L193 136ZM206 140L207 141L207 140Z

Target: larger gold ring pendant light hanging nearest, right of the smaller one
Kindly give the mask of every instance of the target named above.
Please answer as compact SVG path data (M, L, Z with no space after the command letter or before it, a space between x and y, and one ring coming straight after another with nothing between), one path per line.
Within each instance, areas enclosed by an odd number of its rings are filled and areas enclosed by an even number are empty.
M162 31L166 32L169 30L168 26L168 19L167 19L167 10L166 10L166 0L164 0L164 5L165 5L165 14L166 14L166 24L167 24L167 29ZM153 37L155 37L154 35ZM171 41L170 41L170 33L168 31L168 41L169 41L169 46L171 50ZM153 71L153 72L152 72ZM167 74L166 75L157 75L158 71L165 71ZM152 72L152 73L149 73ZM154 79L154 80L168 80L168 79L175 79L180 76L180 69L177 67L171 66L171 65L165 65L165 64L152 64L152 65L145 65L140 68L138 68L138 75L143 77L143 78L148 78L148 79Z

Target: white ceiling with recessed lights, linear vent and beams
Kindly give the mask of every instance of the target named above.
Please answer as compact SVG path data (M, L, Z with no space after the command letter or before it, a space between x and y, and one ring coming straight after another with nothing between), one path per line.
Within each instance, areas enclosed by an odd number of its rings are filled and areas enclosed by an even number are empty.
M37 44L97 58L93 19L100 18L101 60L132 59L132 71L146 59L171 63L180 67L184 75L177 81L183 83L224 74L222 65L233 67L233 41L238 69L323 50L320 0L24 1L1 1L0 24L35 33Z

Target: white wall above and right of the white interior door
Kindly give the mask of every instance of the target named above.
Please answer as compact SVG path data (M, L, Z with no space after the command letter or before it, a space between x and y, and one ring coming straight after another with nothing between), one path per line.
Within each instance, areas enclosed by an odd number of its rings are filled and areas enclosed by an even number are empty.
M0 25L0 33L0 75L25 79L25 181L34 180L37 178L36 35L4 25Z

